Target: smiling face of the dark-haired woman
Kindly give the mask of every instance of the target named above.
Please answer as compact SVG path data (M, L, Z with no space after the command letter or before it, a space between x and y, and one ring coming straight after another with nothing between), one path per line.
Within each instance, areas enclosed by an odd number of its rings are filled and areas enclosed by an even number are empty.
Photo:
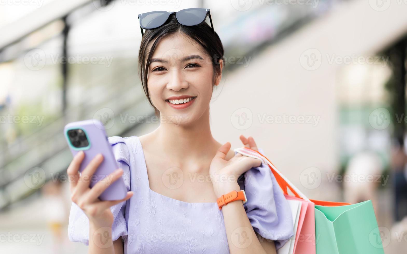
M210 56L193 39L179 33L161 39L155 48L147 87L163 121L187 125L209 111L212 78ZM219 85L220 79L218 75L214 85Z

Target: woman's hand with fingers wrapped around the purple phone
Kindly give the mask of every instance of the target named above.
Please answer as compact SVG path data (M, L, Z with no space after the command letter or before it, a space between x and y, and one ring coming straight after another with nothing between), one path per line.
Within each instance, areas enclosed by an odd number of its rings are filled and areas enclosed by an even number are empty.
M112 174L109 174L106 178L100 180L90 188L89 185L92 175L102 163L103 156L101 154L96 155L85 169L83 169L82 173L79 174L79 167L81 166L84 156L83 151L78 152L67 169L71 200L88 216L91 224L112 227L114 217L112 211L110 211L110 206L128 200L133 195L133 192L127 192L126 198L122 200L101 201L98 199L99 195L101 195L112 182L122 176L123 169L116 169Z

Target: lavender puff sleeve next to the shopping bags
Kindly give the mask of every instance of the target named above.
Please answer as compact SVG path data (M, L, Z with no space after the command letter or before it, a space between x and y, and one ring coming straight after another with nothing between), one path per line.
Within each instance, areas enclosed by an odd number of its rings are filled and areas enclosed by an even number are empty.
M264 154L262 149L258 151ZM254 231L265 239L274 240L279 249L294 234L291 209L284 193L265 163L252 167L243 175L244 181L239 185L247 196L243 205L247 217Z

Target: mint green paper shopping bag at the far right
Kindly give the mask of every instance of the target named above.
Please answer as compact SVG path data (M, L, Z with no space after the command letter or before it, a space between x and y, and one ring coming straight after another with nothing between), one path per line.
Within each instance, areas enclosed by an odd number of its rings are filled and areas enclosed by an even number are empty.
M315 205L317 254L384 254L372 200Z

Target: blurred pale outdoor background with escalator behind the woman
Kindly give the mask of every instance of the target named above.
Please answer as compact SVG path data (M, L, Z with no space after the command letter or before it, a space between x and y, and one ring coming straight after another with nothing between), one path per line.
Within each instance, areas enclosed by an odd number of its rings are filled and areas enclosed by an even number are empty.
M63 127L157 128L137 15L195 7L210 8L225 48L215 139L236 148L252 135L309 198L371 199L385 253L405 253L407 3L396 0L0 0L0 253L87 253L67 235Z

